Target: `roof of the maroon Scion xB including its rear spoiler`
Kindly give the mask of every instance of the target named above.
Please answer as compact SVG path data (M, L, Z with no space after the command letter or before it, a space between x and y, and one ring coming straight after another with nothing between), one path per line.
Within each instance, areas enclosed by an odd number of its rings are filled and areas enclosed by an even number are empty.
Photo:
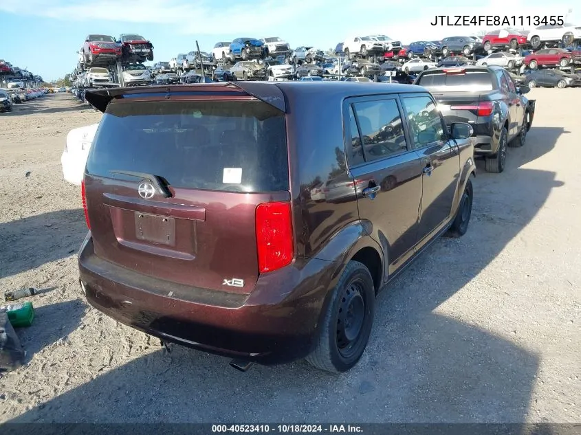
M482 67L480 67L482 68ZM93 107L101 112L105 112L111 100L132 96L135 94L162 94L180 92L196 93L208 92L210 89L216 92L240 93L250 95L271 104L283 112L287 111L286 101L289 98L300 100L300 104L309 104L309 101L320 97L329 101L329 104L337 100L358 96L377 96L393 93L417 93L428 92L427 89L418 85L402 85L399 83L375 83L375 82L217 82L208 84L190 85L168 85L164 87L146 86L139 89L129 87L119 87L113 89L97 89L87 91L85 99Z

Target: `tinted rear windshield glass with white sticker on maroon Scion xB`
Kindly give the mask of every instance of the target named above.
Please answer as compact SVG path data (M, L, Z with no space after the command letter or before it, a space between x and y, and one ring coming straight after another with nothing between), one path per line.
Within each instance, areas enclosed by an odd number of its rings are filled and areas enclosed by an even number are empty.
M146 172L175 188L289 190L285 116L259 100L113 102L87 173Z

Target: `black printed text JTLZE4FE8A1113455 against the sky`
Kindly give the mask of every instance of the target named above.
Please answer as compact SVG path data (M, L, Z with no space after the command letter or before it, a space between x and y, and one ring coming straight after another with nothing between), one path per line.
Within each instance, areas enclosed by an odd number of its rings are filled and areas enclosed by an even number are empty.
M435 15L430 25L564 25L564 15Z

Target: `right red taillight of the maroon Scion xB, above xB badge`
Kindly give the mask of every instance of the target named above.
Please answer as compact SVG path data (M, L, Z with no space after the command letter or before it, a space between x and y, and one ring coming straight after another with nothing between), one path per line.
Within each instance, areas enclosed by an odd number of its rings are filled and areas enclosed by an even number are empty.
M291 263L294 240L290 203L262 203L256 207L256 247L261 274Z

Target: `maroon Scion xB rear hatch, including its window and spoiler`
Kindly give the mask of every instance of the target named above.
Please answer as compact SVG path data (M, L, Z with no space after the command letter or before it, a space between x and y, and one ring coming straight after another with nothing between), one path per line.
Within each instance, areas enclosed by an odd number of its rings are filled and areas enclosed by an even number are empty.
M250 293L257 206L290 199L283 94L274 88L271 104L234 85L190 89L88 93L107 107L85 172L94 253L170 283Z

